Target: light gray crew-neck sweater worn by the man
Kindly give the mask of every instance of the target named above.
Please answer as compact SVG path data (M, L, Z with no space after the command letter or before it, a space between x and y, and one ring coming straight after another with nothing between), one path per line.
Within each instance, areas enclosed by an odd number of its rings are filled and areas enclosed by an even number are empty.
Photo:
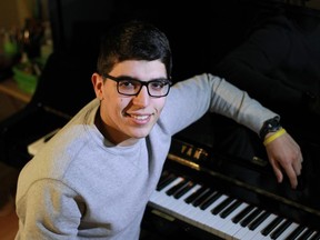
M98 99L89 102L22 169L17 240L137 240L174 133L208 110L257 133L276 116L211 74L176 83L150 134L130 147L103 138L98 109Z

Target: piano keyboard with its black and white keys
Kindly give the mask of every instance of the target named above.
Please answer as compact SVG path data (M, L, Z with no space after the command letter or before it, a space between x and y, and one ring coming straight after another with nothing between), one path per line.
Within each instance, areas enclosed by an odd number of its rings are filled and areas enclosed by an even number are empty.
M168 171L149 206L222 239L320 239L320 231Z

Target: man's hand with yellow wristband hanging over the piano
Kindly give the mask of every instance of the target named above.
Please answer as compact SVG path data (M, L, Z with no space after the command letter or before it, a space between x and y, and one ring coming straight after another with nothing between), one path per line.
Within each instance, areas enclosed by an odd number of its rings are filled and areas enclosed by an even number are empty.
M266 136L268 138L273 133ZM266 146L269 161L278 182L282 182L284 171L292 189L298 186L298 176L302 169L302 153L298 143L287 132Z

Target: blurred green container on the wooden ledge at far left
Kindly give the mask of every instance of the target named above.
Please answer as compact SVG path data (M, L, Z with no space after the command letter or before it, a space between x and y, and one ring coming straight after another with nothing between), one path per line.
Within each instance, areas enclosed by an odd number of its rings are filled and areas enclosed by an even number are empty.
M30 94L32 94L37 88L39 77L30 72L23 71L16 66L12 68L13 79L17 81L18 87Z

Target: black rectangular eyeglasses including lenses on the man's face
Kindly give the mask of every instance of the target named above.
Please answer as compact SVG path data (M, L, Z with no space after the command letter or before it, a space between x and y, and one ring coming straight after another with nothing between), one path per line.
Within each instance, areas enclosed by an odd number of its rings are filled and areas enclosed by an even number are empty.
M117 82L117 91L123 96L138 96L142 87L146 86L148 93L153 98L166 97L169 93L172 82L169 79L153 79L150 81L140 81L130 77L112 77L102 74L106 79L111 79Z

